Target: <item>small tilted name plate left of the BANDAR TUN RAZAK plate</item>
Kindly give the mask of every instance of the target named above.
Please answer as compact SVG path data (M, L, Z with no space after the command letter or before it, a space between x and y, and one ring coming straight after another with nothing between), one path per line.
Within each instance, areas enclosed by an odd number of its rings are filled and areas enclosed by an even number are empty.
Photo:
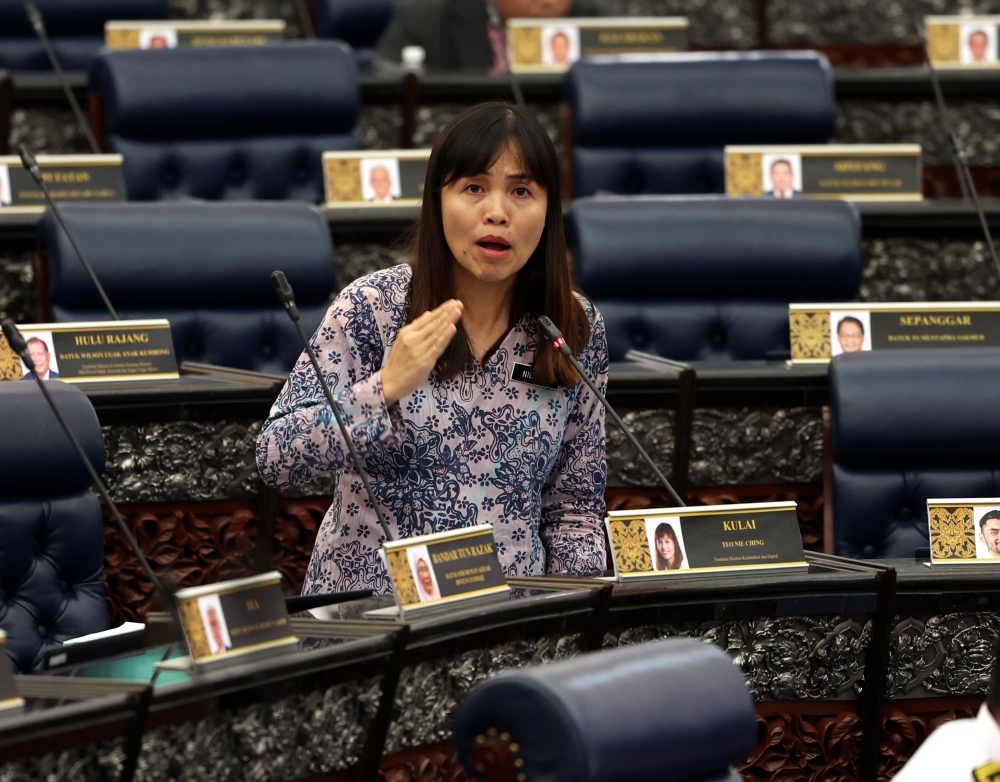
M181 589L176 598L196 668L236 657L266 656L298 643L277 571Z

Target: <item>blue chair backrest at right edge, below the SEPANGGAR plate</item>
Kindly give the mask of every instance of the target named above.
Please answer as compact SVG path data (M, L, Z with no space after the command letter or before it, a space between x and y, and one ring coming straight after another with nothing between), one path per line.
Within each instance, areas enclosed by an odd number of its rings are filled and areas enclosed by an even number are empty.
M927 500L1000 496L1000 349L899 350L830 364L837 554L912 558Z

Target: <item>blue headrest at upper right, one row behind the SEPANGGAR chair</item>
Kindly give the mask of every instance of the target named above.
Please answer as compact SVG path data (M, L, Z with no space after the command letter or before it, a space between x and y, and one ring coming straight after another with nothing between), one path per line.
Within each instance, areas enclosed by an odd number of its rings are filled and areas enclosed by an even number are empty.
M587 58L570 69L574 144L806 144L834 134L832 71L816 52L620 59Z

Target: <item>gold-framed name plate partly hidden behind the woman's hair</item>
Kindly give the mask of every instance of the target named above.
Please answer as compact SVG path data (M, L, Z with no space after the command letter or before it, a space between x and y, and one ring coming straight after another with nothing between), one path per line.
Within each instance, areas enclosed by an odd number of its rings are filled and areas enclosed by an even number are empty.
M327 206L417 206L424 199L429 149L324 152Z

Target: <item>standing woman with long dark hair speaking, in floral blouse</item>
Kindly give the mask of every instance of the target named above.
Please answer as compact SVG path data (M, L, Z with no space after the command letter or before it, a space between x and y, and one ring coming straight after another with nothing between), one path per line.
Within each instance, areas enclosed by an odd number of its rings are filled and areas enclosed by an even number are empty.
M604 324L573 289L559 167L521 108L475 106L431 152L410 264L337 297L312 344L396 538L492 524L508 575L604 570ZM391 590L384 535L303 354L257 441L273 487L336 473L303 592Z

